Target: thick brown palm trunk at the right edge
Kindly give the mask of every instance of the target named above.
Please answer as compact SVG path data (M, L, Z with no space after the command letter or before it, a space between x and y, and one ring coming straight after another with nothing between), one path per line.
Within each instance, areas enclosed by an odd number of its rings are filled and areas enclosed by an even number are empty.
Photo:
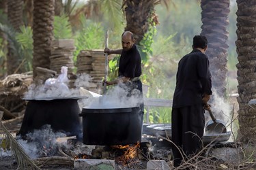
M255 15L256 1L237 0L238 11L236 41L238 53L238 120L240 135L244 142L256 139L256 112L248 105L248 101L256 98L256 41Z

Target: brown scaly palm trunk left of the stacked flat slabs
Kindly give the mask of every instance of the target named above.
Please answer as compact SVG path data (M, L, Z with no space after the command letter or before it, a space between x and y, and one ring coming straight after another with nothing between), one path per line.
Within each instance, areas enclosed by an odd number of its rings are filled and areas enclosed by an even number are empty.
M50 68L54 5L54 0L33 2L33 78L36 67Z

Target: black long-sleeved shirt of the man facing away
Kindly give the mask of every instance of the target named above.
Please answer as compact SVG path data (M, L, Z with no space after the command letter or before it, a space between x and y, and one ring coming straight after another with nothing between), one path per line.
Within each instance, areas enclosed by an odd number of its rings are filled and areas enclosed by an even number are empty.
M202 103L202 95L212 95L208 56L194 49L179 62L173 108Z

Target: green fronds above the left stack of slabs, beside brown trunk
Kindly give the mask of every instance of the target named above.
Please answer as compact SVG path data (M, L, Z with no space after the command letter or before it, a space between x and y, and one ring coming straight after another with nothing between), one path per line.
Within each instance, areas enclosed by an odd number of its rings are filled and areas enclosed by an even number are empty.
M72 37L72 27L68 20L68 16L55 16L53 27L55 39L70 39Z

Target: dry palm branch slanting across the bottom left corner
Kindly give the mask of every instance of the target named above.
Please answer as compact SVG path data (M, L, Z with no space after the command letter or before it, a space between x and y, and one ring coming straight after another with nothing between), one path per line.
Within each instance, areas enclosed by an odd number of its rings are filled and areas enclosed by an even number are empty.
M5 138L6 143L10 145L12 155L17 161L17 169L40 169L37 165L35 165L33 160L29 158L25 150L23 150L22 146L20 146L20 144L5 127L1 121L2 116L3 112L0 112L0 130L3 131L3 137Z

